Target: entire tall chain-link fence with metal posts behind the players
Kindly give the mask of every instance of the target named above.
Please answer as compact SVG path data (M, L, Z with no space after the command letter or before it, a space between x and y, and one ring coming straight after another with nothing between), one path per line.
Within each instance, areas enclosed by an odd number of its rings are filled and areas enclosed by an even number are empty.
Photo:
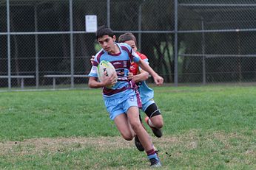
M165 82L256 80L252 0L1 0L1 90L87 87L99 46L86 15L134 33Z

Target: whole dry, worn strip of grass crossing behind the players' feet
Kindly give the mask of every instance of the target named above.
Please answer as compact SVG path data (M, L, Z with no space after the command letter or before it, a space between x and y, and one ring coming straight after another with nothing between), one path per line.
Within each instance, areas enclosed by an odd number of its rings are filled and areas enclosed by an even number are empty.
M255 135L253 133L252 135ZM152 141L161 154L168 155L172 152L182 155L182 150L212 148L220 150L242 149L245 155L256 156L252 138L236 133L214 132L201 135L197 130L191 130L183 135L152 137ZM0 155L45 155L45 153L74 151L84 148L94 148L99 151L107 149L135 149L134 141L125 141L121 136L97 138L33 138L24 141L6 141L0 143ZM220 150L219 150L219 149Z

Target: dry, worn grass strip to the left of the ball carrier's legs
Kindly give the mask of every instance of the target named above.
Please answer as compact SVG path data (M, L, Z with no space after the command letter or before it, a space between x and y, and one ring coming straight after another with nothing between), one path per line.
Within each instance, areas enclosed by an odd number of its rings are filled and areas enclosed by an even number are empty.
M42 151L61 152L64 149L83 149L88 146L101 147L131 147L132 141L121 137L98 138L32 138L24 141L7 141L0 143L0 155L16 153L17 155L40 154Z

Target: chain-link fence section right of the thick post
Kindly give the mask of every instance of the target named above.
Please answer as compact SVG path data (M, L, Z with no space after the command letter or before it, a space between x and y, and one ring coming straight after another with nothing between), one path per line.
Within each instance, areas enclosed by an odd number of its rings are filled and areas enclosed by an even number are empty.
M256 1L179 2L179 82L255 82Z

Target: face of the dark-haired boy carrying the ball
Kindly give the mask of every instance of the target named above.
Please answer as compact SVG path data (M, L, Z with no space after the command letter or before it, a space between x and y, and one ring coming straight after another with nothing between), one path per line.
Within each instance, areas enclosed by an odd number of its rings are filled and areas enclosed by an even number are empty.
M110 37L109 35L104 35L101 38L98 38L98 43L101 45L101 48L106 52L112 52L115 50L115 35Z

